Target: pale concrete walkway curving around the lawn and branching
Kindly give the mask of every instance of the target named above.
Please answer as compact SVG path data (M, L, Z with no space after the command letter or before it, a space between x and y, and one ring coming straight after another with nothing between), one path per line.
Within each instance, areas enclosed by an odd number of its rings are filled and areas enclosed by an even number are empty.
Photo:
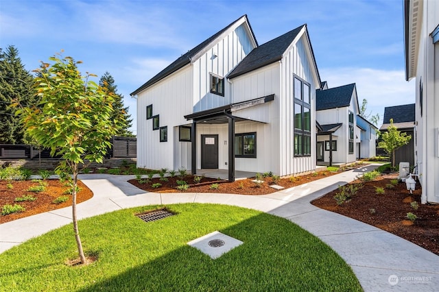
M127 182L133 175L81 175L94 196L78 204L78 215L82 219L121 208L187 202L252 208L284 217L318 236L351 265L365 291L438 291L439 256L398 236L309 204L375 167L368 165L261 196L146 193ZM0 252L69 223L70 207L0 224Z

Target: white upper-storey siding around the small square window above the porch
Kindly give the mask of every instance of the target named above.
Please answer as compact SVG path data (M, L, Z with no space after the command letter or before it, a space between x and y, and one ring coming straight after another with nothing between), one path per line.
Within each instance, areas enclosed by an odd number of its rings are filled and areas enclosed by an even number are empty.
M210 75L226 76L254 49L245 25L231 31L193 62L193 112L231 103L229 82L224 78L224 96L216 95L210 92Z

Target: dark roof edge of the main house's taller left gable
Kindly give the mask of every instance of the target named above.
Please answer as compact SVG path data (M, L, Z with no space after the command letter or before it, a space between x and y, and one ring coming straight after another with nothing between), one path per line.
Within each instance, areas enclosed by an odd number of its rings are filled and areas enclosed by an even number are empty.
M247 14L244 14L243 16L239 17L239 19L241 19L242 17L245 17L247 19ZM130 95L136 95L137 93L141 92L141 90L152 86L152 84L155 84L156 82L159 82L160 80L162 80L163 78L171 75L172 73L178 71L178 69L182 68L183 66L189 64L189 62L191 62L191 58L193 56L195 56L199 51L201 51L202 49L204 49L204 47L206 47L207 45L209 45L210 42L212 42L213 40L215 40L215 38L217 38L220 34L222 34L223 32L226 32L226 30L231 27L232 25L234 25L237 21L239 21L239 19L237 19L236 21L233 21L233 23L230 23L229 25L227 25L226 27L224 27L223 29L221 29L219 32L217 32L216 34L214 34L213 36L211 36L210 38L204 40L204 42L200 43L200 45L194 47L193 49L187 51L187 53L183 54L182 56L180 56L180 58L178 58L177 60L175 60L174 62L172 62L169 66L167 66L165 69L163 69L161 72L159 72L157 75L155 75L154 77L152 77L150 80L148 80L145 84L143 84L142 86L140 86L139 88L137 88L136 90L134 90L132 93L130 93ZM252 27L250 26L250 23L248 22L247 19L247 23L250 27L250 31L252 33L252 36L254 38L254 41L257 44L257 40L254 37L253 34L253 30Z

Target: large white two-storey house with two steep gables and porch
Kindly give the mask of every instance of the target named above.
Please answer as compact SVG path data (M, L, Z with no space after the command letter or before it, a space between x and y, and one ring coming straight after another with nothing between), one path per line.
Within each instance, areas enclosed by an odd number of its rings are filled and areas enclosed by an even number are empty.
M306 25L258 45L246 15L131 94L137 165L291 175L316 169L320 76Z

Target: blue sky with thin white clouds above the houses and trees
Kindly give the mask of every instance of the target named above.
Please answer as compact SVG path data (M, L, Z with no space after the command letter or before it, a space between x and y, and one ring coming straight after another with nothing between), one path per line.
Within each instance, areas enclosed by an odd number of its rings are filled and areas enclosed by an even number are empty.
M372 114L414 103L414 82L404 77L402 0L0 0L0 47L19 49L29 71L61 49L84 62L82 72L108 71L136 133L130 93L244 14L259 45L307 23L322 81L355 82Z

